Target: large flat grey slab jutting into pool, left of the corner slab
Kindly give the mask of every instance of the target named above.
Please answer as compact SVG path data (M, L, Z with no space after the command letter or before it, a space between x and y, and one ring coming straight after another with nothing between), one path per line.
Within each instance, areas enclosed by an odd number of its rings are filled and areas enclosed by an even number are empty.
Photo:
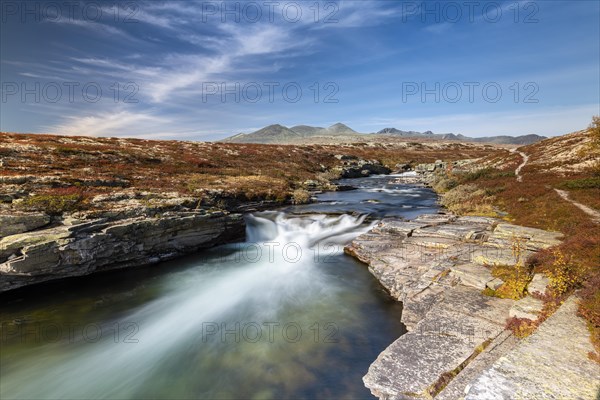
M462 286L445 291L434 286L427 292L406 303L428 304L425 317L385 349L363 378L375 396L428 398L445 372L460 367L478 346L504 331L513 303Z

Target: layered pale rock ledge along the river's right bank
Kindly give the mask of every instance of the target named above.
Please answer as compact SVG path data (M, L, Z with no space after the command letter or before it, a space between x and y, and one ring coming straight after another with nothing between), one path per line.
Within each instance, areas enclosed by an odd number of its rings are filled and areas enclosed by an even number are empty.
M438 395L484 349L506 341L518 302L482 294L502 284L488 268L515 265L560 238L493 218L436 214L386 219L355 239L346 252L402 301L408 330L371 364L365 385L381 399Z

